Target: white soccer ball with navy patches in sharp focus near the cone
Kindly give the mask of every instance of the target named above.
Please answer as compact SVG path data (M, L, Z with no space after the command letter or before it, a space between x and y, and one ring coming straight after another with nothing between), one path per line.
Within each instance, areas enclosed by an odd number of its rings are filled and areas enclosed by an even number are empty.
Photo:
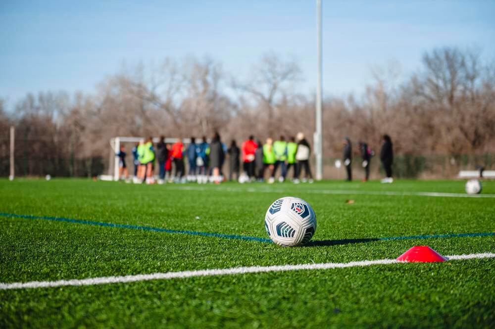
M316 215L306 201L285 196L266 211L265 229L270 239L281 246L305 244L316 231Z

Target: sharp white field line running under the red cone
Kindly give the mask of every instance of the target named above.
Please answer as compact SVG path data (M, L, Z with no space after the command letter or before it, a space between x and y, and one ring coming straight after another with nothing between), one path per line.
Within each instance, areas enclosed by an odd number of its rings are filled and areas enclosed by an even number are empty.
M449 260L471 259L471 258L493 258L495 257L495 253L452 255L446 257ZM299 271L299 270L329 270L329 269L340 269L346 267L385 265L385 264L396 264L396 263L402 263L402 262L399 262L395 259L379 259L379 260L364 260L364 261L349 262L349 263L249 266L249 267L235 267L230 269L211 269L211 270L198 270L198 271L138 274L138 275L128 275L121 277L99 277L99 278L89 278L82 280L74 279L74 280L60 280L60 281L13 282L13 283L0 283L0 290L59 287L59 286L67 286L67 285L80 286L80 285L95 285L95 284L108 284L108 283L126 283L126 282L140 282L140 281L148 281L148 280L170 280L170 279L183 279L183 278L192 278L192 277L209 277L209 276L248 274L248 273L285 272L285 271Z

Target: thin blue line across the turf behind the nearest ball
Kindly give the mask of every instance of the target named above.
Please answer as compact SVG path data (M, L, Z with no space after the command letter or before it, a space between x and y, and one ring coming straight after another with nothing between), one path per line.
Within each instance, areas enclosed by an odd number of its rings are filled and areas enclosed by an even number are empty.
M33 215L19 215L19 214L8 214L8 213L0 213L0 217L12 217L12 218L24 218L24 219L42 219L42 220L48 220L48 221L95 225L95 226L112 227L112 228L119 228L119 229L143 230L143 231L164 232L164 233L173 233L173 234L186 234L186 235L200 235L200 236L220 237L220 238L226 238L226 239L268 242L268 243L272 242L272 240L270 240L269 238L248 236L248 235L232 235L232 234L186 231L186 230L169 230L169 229L160 229L160 228L154 228L154 227L149 227L149 226L94 222L94 221L85 221L85 220L80 220L80 219L72 219L72 218L64 218L64 217L33 216ZM354 240L356 242L360 242L360 241L366 242L366 241L413 240L413 239L428 239L428 238L443 238L443 237L445 238L445 237L475 237L475 236L495 236L495 232L437 234L437 235L406 235L406 236L390 236L390 237L377 237L377 238L362 238L362 239L354 239ZM337 242L337 241L344 241L344 240L311 241L312 242L311 244L318 245L318 242L332 242L332 241ZM338 243L336 243L336 244L338 244Z

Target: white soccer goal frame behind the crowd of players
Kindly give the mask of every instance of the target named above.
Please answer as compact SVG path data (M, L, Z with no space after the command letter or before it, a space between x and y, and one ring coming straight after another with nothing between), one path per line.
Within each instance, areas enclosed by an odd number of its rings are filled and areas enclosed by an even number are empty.
M120 146L122 144L136 144L139 143L139 141L143 140L145 138L143 137L114 137L110 139L110 157L108 161L108 175L101 175L100 179L103 181L118 181L119 180L119 161L117 159L116 154L120 150ZM160 138L158 137L153 137L153 144L156 144L157 142L160 141ZM165 143L175 143L179 141L178 138L165 138ZM184 143L184 146L187 146L190 142L191 139L189 138L184 138L182 139L182 142ZM127 147L126 152L127 154L131 155L131 160L128 161L128 164L132 163L132 153L130 150L132 147ZM128 158L129 159L129 158Z

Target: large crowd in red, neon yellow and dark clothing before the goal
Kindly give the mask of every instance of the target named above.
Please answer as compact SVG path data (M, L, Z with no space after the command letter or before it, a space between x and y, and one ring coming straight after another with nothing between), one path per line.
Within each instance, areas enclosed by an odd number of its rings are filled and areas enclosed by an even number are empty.
M303 182L313 182L309 167L311 148L302 133L286 141L284 136L276 141L268 138L265 143L254 140L249 136L243 142L241 148L235 140L231 141L229 147L215 133L211 141L206 137L200 141L192 137L187 147L182 140L175 143L166 143L162 136L156 145L152 138L141 140L133 149L134 157L134 183L163 184L165 182L185 183L198 182L199 184L212 182L219 184L225 180L223 166L229 159L229 180L245 182L263 182L265 175L268 183L275 182L275 175L280 168L279 181L286 180L292 169L294 183L299 183L299 176L304 170ZM121 145L116 153L119 158L119 177L130 182L129 172L126 165L125 147ZM241 173L241 161L243 172ZM187 174L186 166L187 162ZM158 164L158 179L155 181L154 169Z

